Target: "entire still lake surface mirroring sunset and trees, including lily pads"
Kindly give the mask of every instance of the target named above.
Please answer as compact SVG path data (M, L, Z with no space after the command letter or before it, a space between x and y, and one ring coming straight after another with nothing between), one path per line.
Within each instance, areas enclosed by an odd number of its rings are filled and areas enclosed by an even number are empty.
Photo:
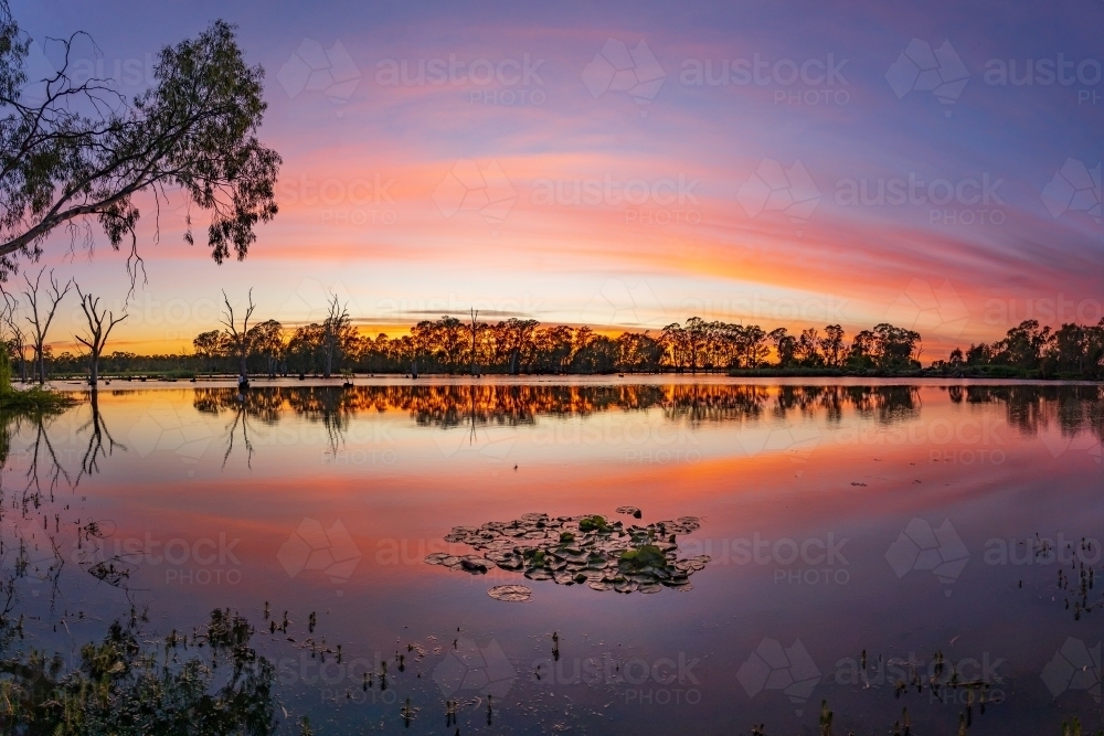
M124 385L8 423L9 649L230 609L288 734L1102 726L1100 386Z

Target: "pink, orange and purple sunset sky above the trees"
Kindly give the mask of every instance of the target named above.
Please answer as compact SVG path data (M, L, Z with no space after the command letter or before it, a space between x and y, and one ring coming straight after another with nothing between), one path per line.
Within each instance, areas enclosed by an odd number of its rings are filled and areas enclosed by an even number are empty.
M219 18L265 70L280 211L243 263L148 201L129 302L102 234L89 254L57 233L30 267L126 309L108 351L190 351L222 291L251 288L262 320L318 320L336 294L393 334L473 307L602 331L889 321L925 363L1023 319L1104 317L1100 0L12 11L47 62L86 32L74 73L127 95ZM55 351L81 323L70 297Z

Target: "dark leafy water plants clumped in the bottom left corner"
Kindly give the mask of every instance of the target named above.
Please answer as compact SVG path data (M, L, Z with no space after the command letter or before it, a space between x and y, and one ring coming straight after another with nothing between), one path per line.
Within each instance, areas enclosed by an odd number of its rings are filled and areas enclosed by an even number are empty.
M17 631L11 621L7 640ZM145 615L114 622L100 642L62 658L11 651L0 660L0 730L52 736L246 734L276 728L275 668L251 646L253 628L215 610L192 636L148 639Z

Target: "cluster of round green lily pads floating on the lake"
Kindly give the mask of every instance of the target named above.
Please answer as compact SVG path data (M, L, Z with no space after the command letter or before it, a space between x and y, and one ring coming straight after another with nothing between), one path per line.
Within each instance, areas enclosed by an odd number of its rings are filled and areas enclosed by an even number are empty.
M624 509L618 511L639 518L639 510ZM445 541L467 544L479 554L437 552L426 556L425 562L473 575L482 575L497 565L511 573L523 573L531 580L585 584L594 590L658 593L664 587L690 590L693 588L690 576L703 569L710 557L680 559L676 540L700 525L697 516L641 526L598 514L550 518L529 513L509 522L457 526Z

